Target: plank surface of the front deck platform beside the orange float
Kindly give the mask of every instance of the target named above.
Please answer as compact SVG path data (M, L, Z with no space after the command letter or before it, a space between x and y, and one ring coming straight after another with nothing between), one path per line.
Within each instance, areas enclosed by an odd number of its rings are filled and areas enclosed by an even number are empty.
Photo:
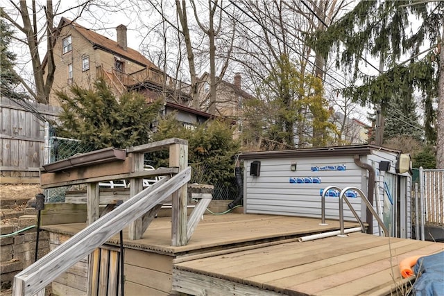
M402 259L442 250L443 243L353 233L187 261L174 268L209 281L249 285L253 294L267 289L284 295L384 295L402 282Z

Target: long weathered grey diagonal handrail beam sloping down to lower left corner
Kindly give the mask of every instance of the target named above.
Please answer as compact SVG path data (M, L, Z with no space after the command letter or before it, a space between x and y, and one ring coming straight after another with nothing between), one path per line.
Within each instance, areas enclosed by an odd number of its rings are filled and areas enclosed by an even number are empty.
M123 227L139 218L171 195L186 186L191 177L191 168L180 171L169 179L166 177L144 189L127 202L123 202L112 215L105 215L70 238L55 250L46 254L14 278L13 295L33 295L51 283L62 272L103 245Z

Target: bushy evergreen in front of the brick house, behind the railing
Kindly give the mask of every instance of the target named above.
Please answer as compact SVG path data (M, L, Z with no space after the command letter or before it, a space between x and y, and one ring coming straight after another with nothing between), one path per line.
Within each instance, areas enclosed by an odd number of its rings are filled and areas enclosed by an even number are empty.
M160 101L147 105L144 96L135 92L117 100L104 80L97 80L94 89L74 85L71 93L57 92L62 107L56 128L60 137L79 139L96 149L151 141L151 123L157 119Z

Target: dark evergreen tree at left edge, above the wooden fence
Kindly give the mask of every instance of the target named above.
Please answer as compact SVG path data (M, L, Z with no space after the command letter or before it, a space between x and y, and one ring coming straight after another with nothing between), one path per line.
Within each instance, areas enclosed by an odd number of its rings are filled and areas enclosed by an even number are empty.
M3 19L0 19L0 92L2 96L9 98L21 98L15 91L20 81L13 67L15 65L15 53L10 51L11 37L14 31Z

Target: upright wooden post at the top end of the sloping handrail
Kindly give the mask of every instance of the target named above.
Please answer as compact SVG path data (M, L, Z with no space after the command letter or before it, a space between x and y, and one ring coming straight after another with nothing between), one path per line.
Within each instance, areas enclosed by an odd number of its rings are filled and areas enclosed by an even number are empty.
M188 145L169 146L169 166L177 166L179 171L188 166ZM172 195L171 245L187 245L187 184Z

